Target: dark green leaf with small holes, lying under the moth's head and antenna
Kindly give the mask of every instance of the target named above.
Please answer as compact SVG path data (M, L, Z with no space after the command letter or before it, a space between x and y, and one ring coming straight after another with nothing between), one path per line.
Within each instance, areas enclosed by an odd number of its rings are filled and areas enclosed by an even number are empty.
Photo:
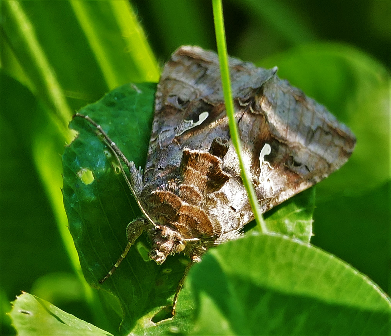
M155 90L156 84L126 84L80 113L99 123L126 157L143 167ZM82 118L72 121L71 127L79 135L63 155L63 194L69 229L86 280L119 298L124 313L122 329L129 332L145 314L157 313L172 304L188 260L176 256L164 265L156 265L146 256L149 243L142 236L115 274L102 285L98 283L127 244L127 224L141 212L120 174L118 162L95 129ZM90 184L81 178L86 171L93 174Z

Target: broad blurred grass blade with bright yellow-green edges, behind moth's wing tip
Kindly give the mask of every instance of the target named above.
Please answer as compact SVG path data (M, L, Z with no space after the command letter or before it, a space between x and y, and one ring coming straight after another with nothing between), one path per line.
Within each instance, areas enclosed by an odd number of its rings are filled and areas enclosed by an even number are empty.
M113 42L108 39L111 35L111 26L117 31L117 37L122 37L122 45L118 44L114 47L126 50L127 56L130 56L133 61L135 72L133 80L136 82L158 81L160 70L156 59L128 2L111 1L96 4L86 1L70 1L70 4L109 89L114 89L126 82L121 75L124 71L118 66L118 62L115 61L116 54L112 52ZM106 23L107 28L102 27L102 22L97 20L99 13L102 12L109 12L112 15L111 20Z

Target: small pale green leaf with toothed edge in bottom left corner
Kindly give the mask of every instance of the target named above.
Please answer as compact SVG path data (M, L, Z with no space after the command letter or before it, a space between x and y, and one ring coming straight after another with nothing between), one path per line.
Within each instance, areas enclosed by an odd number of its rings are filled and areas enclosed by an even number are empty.
M111 335L29 293L16 297L9 315L18 335Z

